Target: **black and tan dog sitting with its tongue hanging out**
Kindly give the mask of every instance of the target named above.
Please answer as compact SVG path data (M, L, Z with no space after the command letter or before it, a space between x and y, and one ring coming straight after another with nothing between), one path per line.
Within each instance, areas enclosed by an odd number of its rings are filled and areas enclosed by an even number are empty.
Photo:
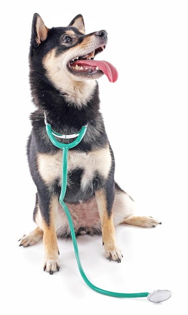
M57 238L70 237L65 212L59 203L62 185L62 150L46 132L44 113L59 134L74 134L87 125L81 142L69 149L68 207L76 237L102 234L107 259L122 260L115 227L132 224L154 227L161 224L150 216L134 214L134 200L115 182L115 159L100 112L98 79L106 74L110 82L118 78L116 68L95 56L107 45L107 32L85 34L82 15L67 27L47 28L35 13L29 52L31 95L36 111L27 142L28 164L36 185L33 220L37 227L19 240L30 246L43 238L45 271L59 271ZM60 139L70 143L72 139Z

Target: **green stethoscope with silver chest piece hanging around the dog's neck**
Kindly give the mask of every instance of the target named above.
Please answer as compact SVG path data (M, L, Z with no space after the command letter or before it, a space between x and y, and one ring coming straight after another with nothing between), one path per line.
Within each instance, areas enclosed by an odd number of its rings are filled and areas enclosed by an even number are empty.
M149 292L118 293L118 292L111 292L111 291L106 291L104 289L98 288L97 286L93 285L87 279L87 277L83 271L83 268L81 266L81 262L80 262L80 258L79 258L79 253L78 253L78 248L77 248L77 243L76 243L76 237L75 237L74 227L73 227L73 223L72 223L72 218L71 218L70 212L69 212L69 210L68 210L68 208L64 202L64 196L66 193L66 186L67 186L68 150L70 148L76 146L82 140L82 138L86 132L87 125L81 127L81 129L77 133L74 133L71 135L63 135L63 134L59 134L59 133L52 130L51 125L47 122L45 113L44 113L44 117L45 117L44 121L45 121L45 125L46 125L46 131L47 131L47 134L48 134L51 142L55 146L57 146L58 148L62 149L62 187L61 187L61 193L60 193L60 197L59 197L59 203L63 207L63 209L67 215L67 218L68 218L68 222L69 222L69 226L70 226L70 233L71 233L72 242L73 242L73 246L74 246L74 252L75 252L75 256L76 256L76 260L77 260L77 265L78 265L80 274L81 274L83 280L85 281L85 283L92 290L95 290L98 293L109 295L109 296L114 296L114 297L126 297L126 298L147 297L148 301L155 302L155 303L162 302L162 301L165 301L168 298L170 298L172 293L169 290L155 290L151 293L149 293ZM57 141L55 137L58 137L61 139L73 139L73 138L75 138L75 140L73 140L71 143L61 143L61 142Z

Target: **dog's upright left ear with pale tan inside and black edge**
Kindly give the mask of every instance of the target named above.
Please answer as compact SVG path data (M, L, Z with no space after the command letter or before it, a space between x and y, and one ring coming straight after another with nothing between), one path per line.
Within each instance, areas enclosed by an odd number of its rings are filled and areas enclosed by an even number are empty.
M32 36L37 45L40 45L41 41L46 40L48 35L48 28L45 26L43 20L38 13L33 16L32 23Z

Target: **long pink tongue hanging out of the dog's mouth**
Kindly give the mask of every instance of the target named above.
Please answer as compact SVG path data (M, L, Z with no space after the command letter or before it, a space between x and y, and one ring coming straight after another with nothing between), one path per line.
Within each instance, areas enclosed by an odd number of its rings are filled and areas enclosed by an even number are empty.
M88 65L90 67L98 66L101 71L103 71L107 76L110 82L116 82L118 79L118 71L117 69L107 61L98 61L98 60L77 60L72 65Z

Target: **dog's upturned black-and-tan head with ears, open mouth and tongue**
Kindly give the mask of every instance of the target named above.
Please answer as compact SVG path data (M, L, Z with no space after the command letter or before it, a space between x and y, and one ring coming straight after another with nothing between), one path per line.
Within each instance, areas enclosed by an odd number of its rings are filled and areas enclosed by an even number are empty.
M32 24L30 47L31 72L38 73L38 79L44 73L53 86L64 95L71 95L72 87L79 85L84 93L96 86L92 81L106 74L110 82L118 78L116 68L107 61L95 60L107 45L107 32L101 30L85 35L84 22L77 15L67 27L47 28L41 17L35 13ZM88 89L88 92L87 92ZM87 96L84 97L85 100ZM78 98L76 97L78 100ZM81 96L80 102L83 97Z

